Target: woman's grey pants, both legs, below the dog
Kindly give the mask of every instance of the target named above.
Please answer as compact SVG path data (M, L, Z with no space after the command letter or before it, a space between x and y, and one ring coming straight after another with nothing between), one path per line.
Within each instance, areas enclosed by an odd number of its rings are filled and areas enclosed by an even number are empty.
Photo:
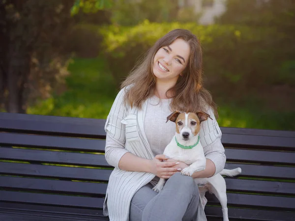
M194 221L199 205L199 189L190 176L179 172L156 193L147 184L133 196L130 221Z

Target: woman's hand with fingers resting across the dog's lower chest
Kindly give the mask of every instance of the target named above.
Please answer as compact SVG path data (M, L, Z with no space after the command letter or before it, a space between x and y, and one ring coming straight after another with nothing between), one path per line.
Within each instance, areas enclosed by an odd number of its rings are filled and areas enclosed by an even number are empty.
M169 158L163 154L156 155L154 159L150 161L150 172L164 179L169 179L173 174L179 172L181 168L172 167L179 164L179 162L163 162L168 159Z

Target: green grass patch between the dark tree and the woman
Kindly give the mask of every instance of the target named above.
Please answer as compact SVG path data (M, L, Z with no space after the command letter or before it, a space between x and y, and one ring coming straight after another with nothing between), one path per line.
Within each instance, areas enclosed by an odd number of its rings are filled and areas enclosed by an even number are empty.
M69 65L66 90L40 100L27 113L105 118L114 102L116 89L102 58L76 58Z

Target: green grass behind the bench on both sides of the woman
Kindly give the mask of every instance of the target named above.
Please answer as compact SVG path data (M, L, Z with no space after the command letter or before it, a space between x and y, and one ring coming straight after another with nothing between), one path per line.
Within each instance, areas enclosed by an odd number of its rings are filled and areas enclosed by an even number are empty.
M114 102L115 81L102 57L75 58L69 65L64 93L29 107L28 113L56 116L106 118ZM247 100L248 99L248 100ZM218 123L224 127L295 130L295 112L279 112L262 108L263 101L249 96L227 102L216 100L219 105ZM226 102L225 102L226 101Z

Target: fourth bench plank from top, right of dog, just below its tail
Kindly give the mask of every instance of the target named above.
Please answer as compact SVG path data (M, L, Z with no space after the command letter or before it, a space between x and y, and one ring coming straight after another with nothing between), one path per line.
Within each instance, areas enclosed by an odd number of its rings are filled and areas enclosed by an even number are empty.
M295 194L295 183L225 178L227 191Z

